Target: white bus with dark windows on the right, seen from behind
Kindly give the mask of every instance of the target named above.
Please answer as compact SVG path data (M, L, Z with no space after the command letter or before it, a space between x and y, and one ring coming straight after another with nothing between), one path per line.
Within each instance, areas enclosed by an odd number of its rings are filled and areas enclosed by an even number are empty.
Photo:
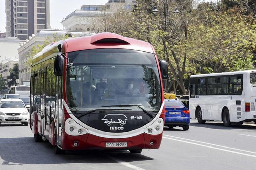
M190 76L192 119L223 121L224 126L256 122L256 70Z

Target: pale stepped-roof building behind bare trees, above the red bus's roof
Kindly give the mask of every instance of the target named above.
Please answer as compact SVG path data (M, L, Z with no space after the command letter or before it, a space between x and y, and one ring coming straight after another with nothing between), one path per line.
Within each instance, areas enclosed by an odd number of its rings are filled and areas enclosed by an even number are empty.
M102 17L111 17L118 9L131 10L135 4L135 0L109 0L105 5L82 5L80 10L63 18L63 29L102 32L99 29L106 29Z

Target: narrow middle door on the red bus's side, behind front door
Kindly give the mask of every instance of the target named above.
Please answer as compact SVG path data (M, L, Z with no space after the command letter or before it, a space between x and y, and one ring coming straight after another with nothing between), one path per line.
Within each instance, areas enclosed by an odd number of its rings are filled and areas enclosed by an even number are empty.
M45 102L46 102L46 83L45 83L45 71L41 74L41 84L42 84L42 96L41 96L41 134L42 136L45 135L45 125L46 125L46 109L45 109Z

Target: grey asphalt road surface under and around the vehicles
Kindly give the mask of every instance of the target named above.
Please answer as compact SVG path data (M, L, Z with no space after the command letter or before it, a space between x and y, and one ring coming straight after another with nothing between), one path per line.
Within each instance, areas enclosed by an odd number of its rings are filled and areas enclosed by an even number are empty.
M29 126L0 126L0 170L255 170L256 126L224 127L221 122L198 124L188 131L164 129L159 149L141 154L126 150L76 151L55 155L48 142L34 142Z

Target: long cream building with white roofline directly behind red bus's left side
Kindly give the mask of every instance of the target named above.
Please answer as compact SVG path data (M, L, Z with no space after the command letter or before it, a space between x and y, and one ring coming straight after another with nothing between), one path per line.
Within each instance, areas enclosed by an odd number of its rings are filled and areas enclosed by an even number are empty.
M95 33L93 32L82 32L82 31L66 31L66 30L40 30L37 34L32 34L26 42L23 42L18 48L19 54L19 84L25 85L30 82L30 71L31 65L29 64L29 58L32 56L33 46L43 44L47 37L80 37L90 36Z

